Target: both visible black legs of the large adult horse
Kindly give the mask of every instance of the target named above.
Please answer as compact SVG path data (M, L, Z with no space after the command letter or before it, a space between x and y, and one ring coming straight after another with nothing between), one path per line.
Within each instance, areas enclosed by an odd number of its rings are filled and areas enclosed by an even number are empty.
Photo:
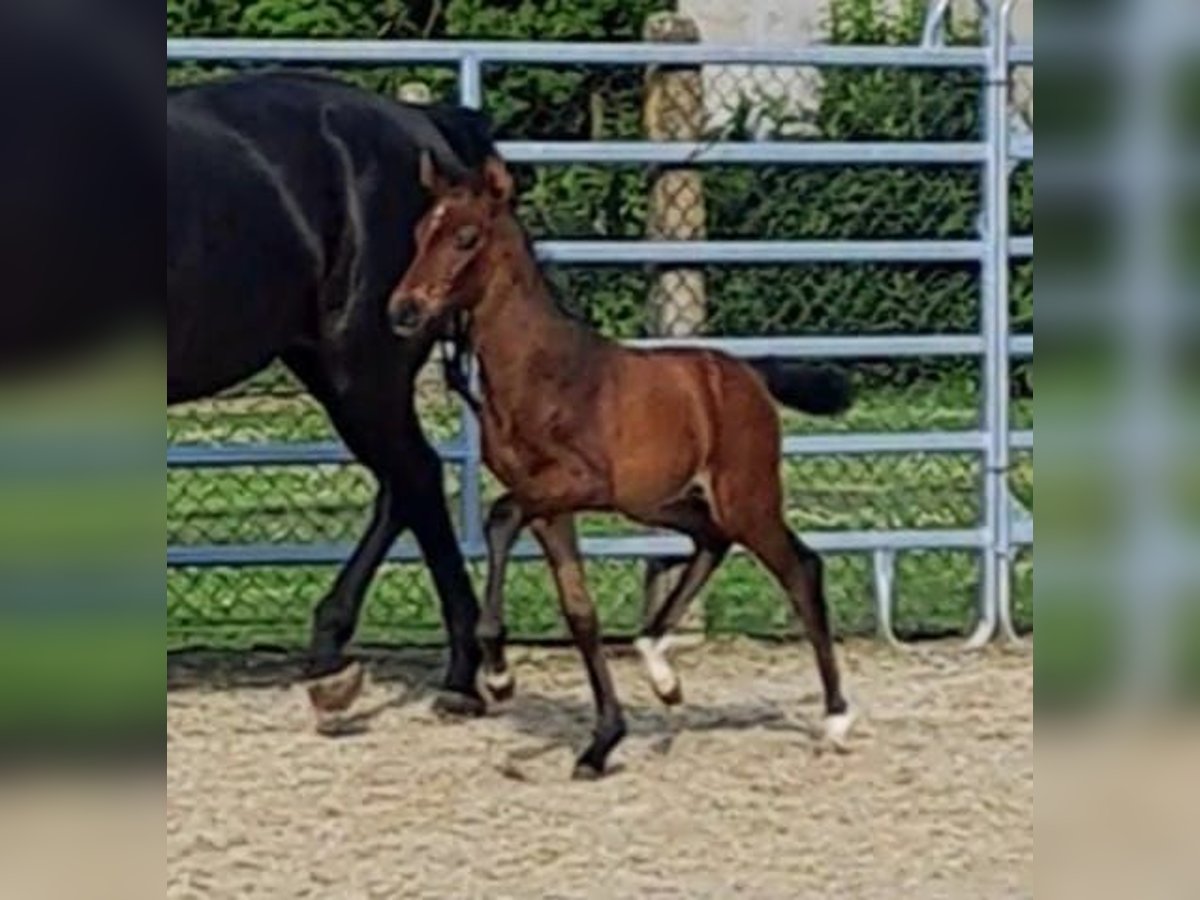
M371 578L401 530L410 527L433 575L450 642L448 694L438 698L438 707L480 714L484 702L475 688L479 606L446 511L442 462L413 410L410 379L398 371L394 377L362 379L367 388L353 373L335 382L316 353L292 353L284 361L379 482L366 534L313 614L307 667L307 676L317 679L313 702L326 709L353 702L361 673L343 650L354 635Z

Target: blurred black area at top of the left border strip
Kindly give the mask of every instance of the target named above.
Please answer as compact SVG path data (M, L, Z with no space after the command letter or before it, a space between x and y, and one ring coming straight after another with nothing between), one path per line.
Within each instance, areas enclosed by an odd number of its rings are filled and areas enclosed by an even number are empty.
M164 62L145 54L162 29L149 12L0 6L0 377L122 335L162 289Z

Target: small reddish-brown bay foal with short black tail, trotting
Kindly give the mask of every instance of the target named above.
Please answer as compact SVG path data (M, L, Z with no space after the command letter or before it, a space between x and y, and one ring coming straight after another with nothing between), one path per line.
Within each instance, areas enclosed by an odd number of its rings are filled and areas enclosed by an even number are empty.
M760 376L710 350L622 347L564 314L511 212L512 182L491 157L476 184L443 181L416 228L416 256L389 301L403 336L464 317L481 370L484 460L509 490L488 516L488 587L480 620L493 692L511 689L504 661L503 577L529 524L558 587L595 695L599 722L575 774L594 778L625 733L588 595L575 514L616 510L695 541L679 586L650 614L638 648L655 691L678 702L664 640L732 544L757 557L787 593L816 652L826 730L841 742L851 712L839 685L820 557L784 520L779 418L772 396L809 412L846 406L844 379L808 367Z

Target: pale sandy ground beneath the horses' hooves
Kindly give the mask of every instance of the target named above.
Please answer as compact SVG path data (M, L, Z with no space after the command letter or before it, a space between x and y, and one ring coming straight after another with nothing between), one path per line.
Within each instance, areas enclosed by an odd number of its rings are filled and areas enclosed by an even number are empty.
M840 648L864 718L823 752L806 646L676 656L665 710L637 661L617 772L569 780L590 700L571 650L517 650L517 696L439 721L424 654L372 661L361 733L313 733L292 664L175 658L170 898L1009 898L1033 895L1033 665L956 644Z

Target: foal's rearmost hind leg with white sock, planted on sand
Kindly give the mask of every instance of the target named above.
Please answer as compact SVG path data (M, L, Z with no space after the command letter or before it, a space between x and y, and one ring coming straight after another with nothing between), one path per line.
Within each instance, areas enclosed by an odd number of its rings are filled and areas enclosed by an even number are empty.
M824 689L826 736L832 743L840 745L853 724L853 714L841 694L829 631L821 557L797 538L781 518L755 524L740 540L779 580L804 623Z

